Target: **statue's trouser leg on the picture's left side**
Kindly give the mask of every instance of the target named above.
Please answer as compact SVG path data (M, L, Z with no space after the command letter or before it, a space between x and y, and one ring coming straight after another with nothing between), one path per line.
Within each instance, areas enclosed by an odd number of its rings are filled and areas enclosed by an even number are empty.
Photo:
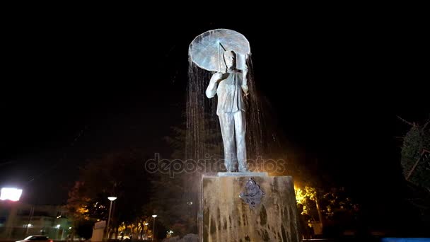
M231 113L220 113L219 124L224 144L224 164L228 172L235 170L234 160L236 154L236 144L234 139L234 117Z

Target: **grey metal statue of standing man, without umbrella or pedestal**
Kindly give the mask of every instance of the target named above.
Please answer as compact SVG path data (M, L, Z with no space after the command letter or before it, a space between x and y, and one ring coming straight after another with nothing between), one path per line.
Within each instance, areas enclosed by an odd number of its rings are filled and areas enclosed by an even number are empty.
M218 96L216 115L219 117L221 134L224 144L224 164L228 172L248 172L246 163L245 144L245 105L243 98L248 95L246 76L248 69L243 71L236 69L236 53L223 52L223 61L226 64L224 72L216 72L212 75L206 96L213 98Z

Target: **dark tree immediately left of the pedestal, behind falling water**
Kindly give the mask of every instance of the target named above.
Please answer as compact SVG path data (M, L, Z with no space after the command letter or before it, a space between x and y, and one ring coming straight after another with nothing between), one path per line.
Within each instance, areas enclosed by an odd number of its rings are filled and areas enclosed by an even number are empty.
M197 234L199 183L204 170L208 168L206 171L209 171L208 164L199 160L212 157L210 166L221 158L222 139L216 123L209 118L203 123L204 127L200 127L202 130L199 132L199 144L187 139L190 134L186 131L185 124L173 127L173 134L165 137L168 146L173 148L166 159L170 161L170 168L165 169L165 173L151 175L151 212L158 215L157 221L161 221L168 230L179 236ZM194 169L186 171L185 164L188 161L191 161L189 164ZM174 166L180 168L175 169Z

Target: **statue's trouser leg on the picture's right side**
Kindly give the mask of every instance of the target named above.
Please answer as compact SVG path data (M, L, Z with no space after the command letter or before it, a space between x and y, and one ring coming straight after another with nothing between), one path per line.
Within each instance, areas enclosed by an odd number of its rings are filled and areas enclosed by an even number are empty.
M248 172L248 165L246 163L245 112L239 111L234 113L234 126L236 129L236 149L238 154L239 171Z

